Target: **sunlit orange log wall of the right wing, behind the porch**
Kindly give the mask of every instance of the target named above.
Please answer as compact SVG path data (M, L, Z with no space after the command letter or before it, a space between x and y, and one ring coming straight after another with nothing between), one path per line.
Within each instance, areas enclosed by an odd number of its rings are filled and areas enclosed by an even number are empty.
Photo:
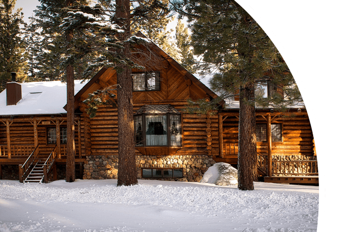
M267 123L267 112L257 111L256 123ZM223 118L223 156L231 164L237 164L237 146L239 138L238 113L222 113ZM227 117L226 117L227 116ZM286 156L291 159L316 159L315 144L312 129L307 113L294 115L271 114L272 124L282 125L282 141L272 142L272 155L276 157ZM230 153L229 153L230 144ZM232 144L235 144L235 153ZM227 149L226 149L227 145ZM267 155L267 142L257 142L257 152ZM283 159L283 158L282 158ZM219 159L218 159L219 160Z

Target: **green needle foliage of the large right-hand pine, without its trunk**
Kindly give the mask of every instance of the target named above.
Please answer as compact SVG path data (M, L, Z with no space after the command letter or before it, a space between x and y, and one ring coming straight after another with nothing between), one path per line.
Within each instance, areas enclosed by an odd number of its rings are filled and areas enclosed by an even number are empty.
M257 81L274 85L285 97L251 96L246 103L285 109L301 102L295 80L270 38L235 1L173 1L191 24L191 46L201 57L197 69L222 99ZM183 10L184 9L184 10ZM278 91L279 92L279 91Z

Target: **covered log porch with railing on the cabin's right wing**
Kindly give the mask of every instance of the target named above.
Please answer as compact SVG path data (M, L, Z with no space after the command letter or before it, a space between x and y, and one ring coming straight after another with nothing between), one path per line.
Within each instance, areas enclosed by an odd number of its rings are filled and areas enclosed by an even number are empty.
M265 182L319 184L315 141L307 113L257 111L256 123L265 125L257 138L258 173ZM219 114L219 155L216 162L238 162L238 112ZM273 129L272 125L278 125ZM258 127L262 128L262 127ZM280 129L279 129L280 128ZM278 138L274 134L278 134ZM269 168L271 167L271 168Z

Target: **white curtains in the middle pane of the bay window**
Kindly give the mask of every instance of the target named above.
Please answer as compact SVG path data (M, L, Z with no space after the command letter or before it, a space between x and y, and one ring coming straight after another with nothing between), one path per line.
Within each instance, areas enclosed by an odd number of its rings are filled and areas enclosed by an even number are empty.
M146 117L146 146L167 145L166 115L147 115Z

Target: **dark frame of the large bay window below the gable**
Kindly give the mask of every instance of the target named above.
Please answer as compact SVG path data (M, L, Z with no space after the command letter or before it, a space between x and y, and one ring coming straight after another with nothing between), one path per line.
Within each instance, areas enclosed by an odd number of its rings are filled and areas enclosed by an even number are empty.
M166 116L166 126L167 126L167 131L166 131L166 135L167 135L167 144L166 145L147 145L146 144L146 116ZM179 140L179 145L171 145L171 116L179 116L179 136L180 136L180 140ZM137 117L141 117L141 134L137 134L137 127L136 127L136 122L138 120L136 120ZM135 136L135 146L136 147L182 147L182 114L171 114L171 113L164 113L164 114L138 114L134 116L134 136ZM137 136L139 138L141 138L142 140L139 140L137 142ZM139 145L137 145L139 144Z

